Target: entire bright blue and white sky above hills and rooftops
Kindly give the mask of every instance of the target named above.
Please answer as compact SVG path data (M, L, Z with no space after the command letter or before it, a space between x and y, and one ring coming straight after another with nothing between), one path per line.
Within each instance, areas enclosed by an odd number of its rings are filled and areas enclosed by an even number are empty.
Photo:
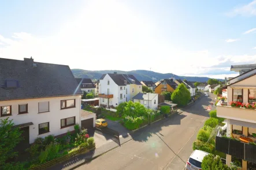
M238 75L256 63L255 1L0 0L0 58L84 70Z

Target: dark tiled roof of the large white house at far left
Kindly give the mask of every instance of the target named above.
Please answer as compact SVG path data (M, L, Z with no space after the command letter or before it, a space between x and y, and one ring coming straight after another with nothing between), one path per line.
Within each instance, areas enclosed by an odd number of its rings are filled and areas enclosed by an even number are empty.
M16 89L0 88L0 100L82 94L69 66L0 58L0 73L0 86L8 79L19 84Z

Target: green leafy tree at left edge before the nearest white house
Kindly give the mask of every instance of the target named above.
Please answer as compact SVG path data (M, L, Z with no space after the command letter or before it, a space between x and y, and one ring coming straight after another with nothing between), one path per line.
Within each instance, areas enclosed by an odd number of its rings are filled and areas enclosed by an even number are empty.
M13 152L13 149L23 139L20 137L22 131L13 125L13 120L9 118L2 119L0 122L0 167L8 158L16 156L17 152Z

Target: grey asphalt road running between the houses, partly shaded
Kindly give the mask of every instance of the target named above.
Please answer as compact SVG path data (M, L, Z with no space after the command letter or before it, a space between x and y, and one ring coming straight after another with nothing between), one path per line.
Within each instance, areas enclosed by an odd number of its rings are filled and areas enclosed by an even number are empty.
M202 97L181 114L139 130L133 140L76 169L184 169L196 134L208 118L206 107L212 97Z

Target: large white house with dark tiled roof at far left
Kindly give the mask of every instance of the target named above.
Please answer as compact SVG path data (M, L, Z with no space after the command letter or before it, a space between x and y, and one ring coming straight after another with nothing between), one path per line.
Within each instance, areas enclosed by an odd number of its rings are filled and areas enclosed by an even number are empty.
M0 119L23 130L23 145L80 125L81 90L69 66L0 58Z

